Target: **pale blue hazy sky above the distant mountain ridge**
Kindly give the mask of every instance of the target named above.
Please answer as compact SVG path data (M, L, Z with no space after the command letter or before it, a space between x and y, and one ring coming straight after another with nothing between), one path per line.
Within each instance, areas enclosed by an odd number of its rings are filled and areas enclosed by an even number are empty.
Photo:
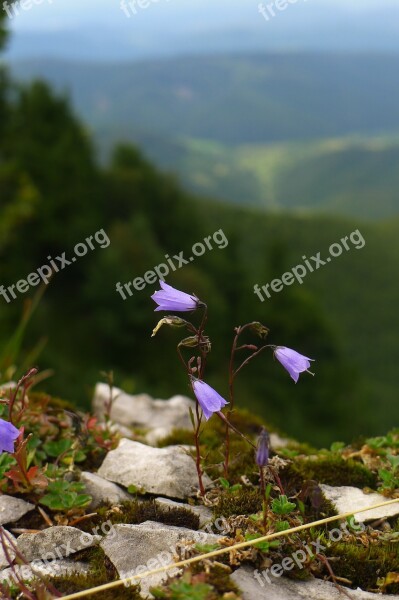
M190 52L399 52L399 0L38 0L10 20L9 59L131 60ZM270 4L273 0L263 0ZM275 1L275 0L274 0ZM0 0L1 7L2 0ZM18 5L17 5L18 6ZM126 9L125 9L126 10Z

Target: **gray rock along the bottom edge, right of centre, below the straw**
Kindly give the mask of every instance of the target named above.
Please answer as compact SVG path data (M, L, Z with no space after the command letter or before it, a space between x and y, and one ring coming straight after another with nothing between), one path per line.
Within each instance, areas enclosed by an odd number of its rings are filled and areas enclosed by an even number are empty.
M254 574L259 575L255 579ZM328 581L310 579L298 581L286 577L273 577L267 575L270 583L259 571L251 567L240 567L231 575L231 579L242 591L242 600L343 600L346 598L337 588ZM263 585L262 585L263 584ZM349 590L344 588L353 600L376 600L376 598L389 598L399 600L399 596L372 594L362 590Z

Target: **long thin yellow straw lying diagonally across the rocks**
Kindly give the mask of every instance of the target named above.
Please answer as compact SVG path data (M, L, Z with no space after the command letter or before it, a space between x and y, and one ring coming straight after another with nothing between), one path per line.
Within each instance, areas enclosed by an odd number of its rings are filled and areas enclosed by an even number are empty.
M347 519L352 515L366 512L368 510L373 510L375 508L380 508L382 506L390 506L391 504L395 504L395 502L399 502L399 498L395 500L389 500L387 502L381 502L380 504L374 504L373 506L369 506L367 508L360 508L359 510L351 511L348 513L343 513L341 515L335 515L333 517L327 517L326 519L321 519L319 521L313 521L312 523L306 523L304 525L299 525L298 527L293 527L292 529L286 529L285 531L279 531L277 533L271 533L269 535L264 535L263 537L256 538L254 540L248 540L246 542L240 542L239 544L234 544L234 546L230 546L228 548L220 548L219 550L213 550L212 552L207 552L206 554L201 554L200 556L193 556L192 558L188 558L186 560L182 560L177 563L172 563L170 565L166 565L163 567L159 567L157 569L153 569L152 571L146 571L145 573L140 573L138 575L132 575L131 577L127 577L126 579L118 579L117 581L111 581L110 583L105 583L103 585L99 585L98 587L91 588L90 590L84 590L82 592L76 592L75 594L69 594L68 596L63 596L64 600L75 600L75 598L84 598L85 596L89 596L90 594L98 594L99 592L103 592L105 590L110 590L112 588L119 587L121 585L130 584L133 581L143 579L144 577L148 577L149 575L155 575L156 573L163 573L165 571L169 571L170 569L175 569L176 567L185 567L186 565L192 565L193 563L200 562L201 560L207 558L213 558L214 556L220 556L221 554L226 554L227 552L231 552L232 550L240 550L241 548L247 548L248 546L255 546L259 544L259 542L267 542L269 540L273 540L278 537L284 537L290 535L291 533L296 533L298 531L303 531L304 529L310 529L311 527L316 527L318 525L324 525L325 523L331 523L333 521L339 521L341 519Z

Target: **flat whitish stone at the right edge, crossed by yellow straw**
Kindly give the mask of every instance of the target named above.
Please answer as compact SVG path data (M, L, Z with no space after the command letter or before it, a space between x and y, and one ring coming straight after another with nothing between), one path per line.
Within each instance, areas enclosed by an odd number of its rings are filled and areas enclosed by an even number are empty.
M368 510L363 513L356 513L356 510L359 508L373 506L373 504L379 504L388 499L376 492L365 494L359 488L350 486L333 487L331 485L320 484L320 488L325 498L331 502L338 514L353 513L359 523L399 515L399 498L396 504Z

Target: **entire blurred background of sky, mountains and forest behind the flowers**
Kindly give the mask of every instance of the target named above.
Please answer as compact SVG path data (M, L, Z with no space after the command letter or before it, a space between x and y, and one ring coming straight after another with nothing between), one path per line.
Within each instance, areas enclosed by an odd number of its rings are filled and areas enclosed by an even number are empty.
M222 229L226 248L167 278L209 305L209 383L227 395L233 327L258 320L316 376L295 385L262 355L239 406L321 445L398 425L399 6L263 6L0 8L0 285L101 229L111 242L45 289L0 295L3 380L38 364L53 372L42 387L81 407L111 369L129 392L189 393L179 336L150 338L158 286L126 300L115 286ZM354 230L361 250L254 294Z

